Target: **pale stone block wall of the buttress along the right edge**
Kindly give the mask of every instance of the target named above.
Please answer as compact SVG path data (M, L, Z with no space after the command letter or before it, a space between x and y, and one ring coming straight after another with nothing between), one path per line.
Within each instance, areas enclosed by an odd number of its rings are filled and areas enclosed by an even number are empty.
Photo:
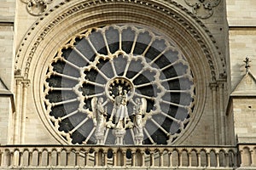
M248 89L246 83L240 83L246 74L245 58L248 57L249 71L252 76L256 75L256 1L253 0L227 0L227 16L230 26L230 80L231 90L237 86L242 89L242 97L236 96L232 100L230 114L234 114L234 131L237 142L255 142L255 90ZM255 83L251 80L251 83ZM247 98L247 96L251 96ZM231 117L231 116L230 116ZM230 122L232 120L229 120Z

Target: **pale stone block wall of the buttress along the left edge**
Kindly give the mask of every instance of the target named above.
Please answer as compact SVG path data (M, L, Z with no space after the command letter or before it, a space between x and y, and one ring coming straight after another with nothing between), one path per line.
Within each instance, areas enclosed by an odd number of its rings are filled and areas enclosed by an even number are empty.
M15 0L3 0L0 6L0 78L3 91L13 89ZM6 86L6 87L5 87ZM2 94L2 89L0 89ZM8 144L12 134L12 110L9 96L0 95L0 144Z

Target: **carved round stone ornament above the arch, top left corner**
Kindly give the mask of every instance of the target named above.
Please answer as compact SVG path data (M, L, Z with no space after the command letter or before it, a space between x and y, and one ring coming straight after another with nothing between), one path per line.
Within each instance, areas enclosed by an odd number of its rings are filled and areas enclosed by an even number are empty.
M47 9L47 5L52 3L53 0L21 0L23 3L26 3L26 9L29 14L32 15L41 15Z

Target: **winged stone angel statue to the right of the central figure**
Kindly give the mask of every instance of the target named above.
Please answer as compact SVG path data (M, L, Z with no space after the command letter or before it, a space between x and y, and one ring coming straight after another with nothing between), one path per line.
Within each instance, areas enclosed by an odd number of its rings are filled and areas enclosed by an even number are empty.
M145 122L143 121L143 115L147 110L147 100L146 99L136 99L136 104L134 105L134 134L135 134L135 143L136 144L143 144L143 127Z

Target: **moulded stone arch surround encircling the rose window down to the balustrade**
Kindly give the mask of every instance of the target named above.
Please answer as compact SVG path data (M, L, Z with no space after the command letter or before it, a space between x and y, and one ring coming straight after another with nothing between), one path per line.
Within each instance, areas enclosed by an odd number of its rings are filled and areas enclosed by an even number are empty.
M60 8L61 7L61 8ZM164 17L163 17L164 16ZM16 56L15 69L32 80L32 91L35 105L44 125L61 144L68 144L60 133L53 131L53 126L44 115L41 77L45 76L49 60L62 44L70 37L94 26L105 26L119 23L137 23L151 26L170 37L188 56L189 65L195 74L196 92L200 96L195 106L195 122L189 125L181 143L199 121L207 95L207 83L215 82L225 71L225 61L218 53L216 42L211 33L200 20L186 8L177 3L157 1L112 1L86 3L74 0L72 3L61 3L40 17L31 30L27 32Z

